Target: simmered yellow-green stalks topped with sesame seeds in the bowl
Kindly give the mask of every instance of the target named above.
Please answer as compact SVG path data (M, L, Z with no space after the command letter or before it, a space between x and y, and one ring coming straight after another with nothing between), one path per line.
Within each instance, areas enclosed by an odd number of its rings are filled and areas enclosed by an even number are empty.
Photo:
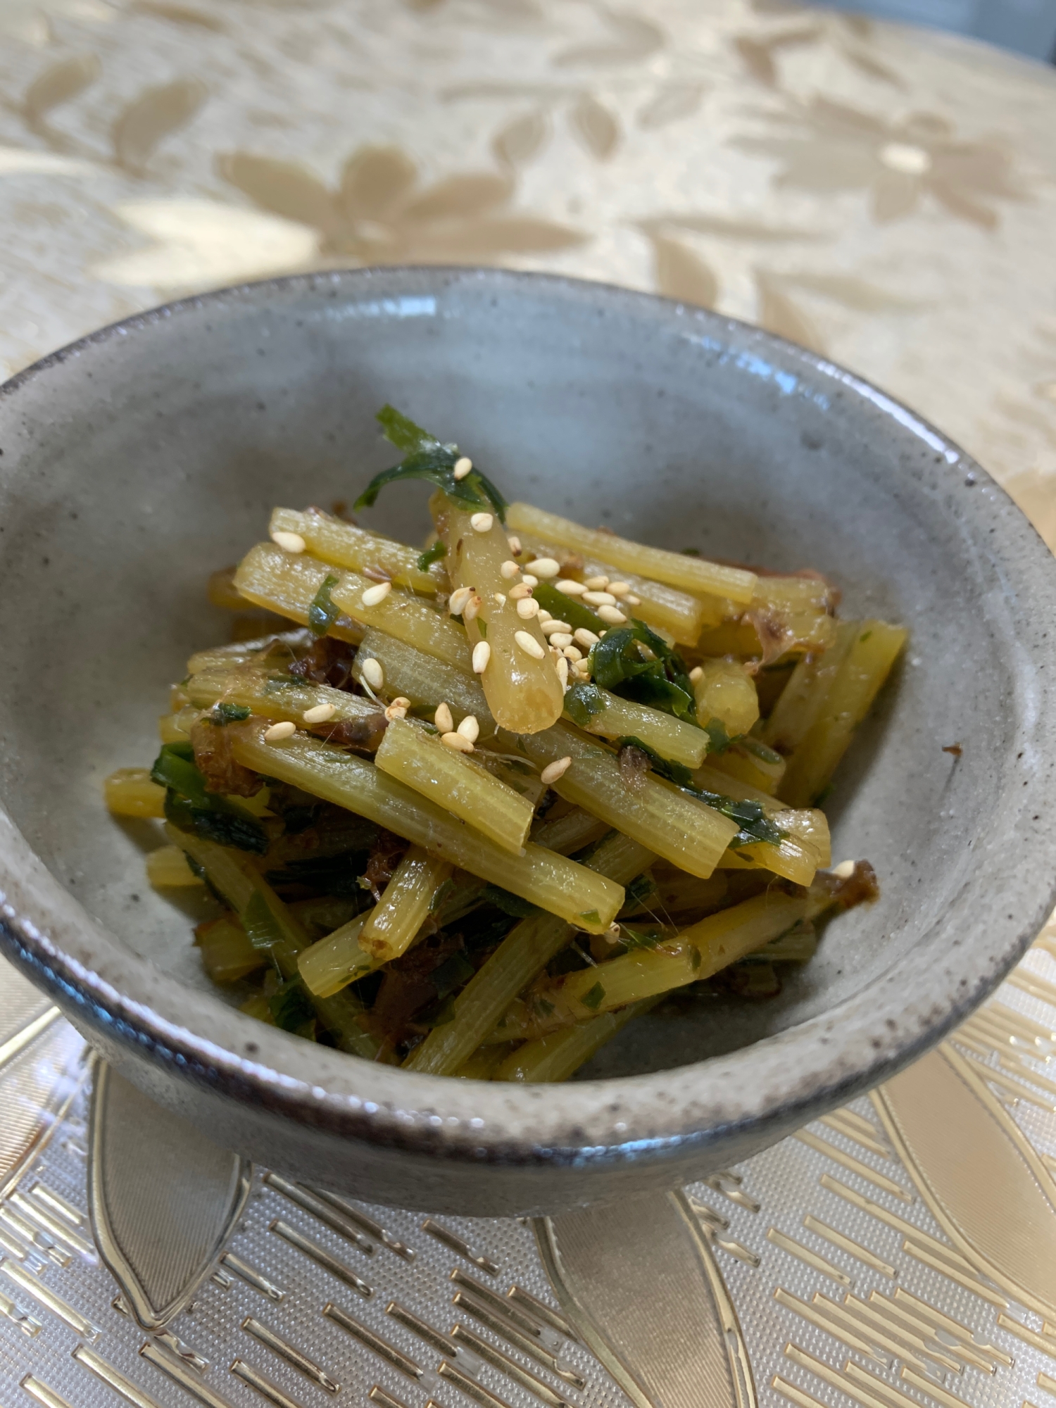
M649 548L507 504L393 407L424 549L276 508L210 594L277 631L194 655L110 811L242 1010L436 1076L572 1076L649 1010L780 991L876 895L829 869L831 779L905 641L815 572ZM259 618L263 622L272 618Z

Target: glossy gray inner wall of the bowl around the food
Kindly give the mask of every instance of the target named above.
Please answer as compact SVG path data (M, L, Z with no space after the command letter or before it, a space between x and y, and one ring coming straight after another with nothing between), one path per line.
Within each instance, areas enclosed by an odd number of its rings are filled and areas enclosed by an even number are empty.
M351 501L393 462L373 420L384 401L458 441L510 498L669 548L817 567L843 614L911 628L828 804L834 859L869 857L880 901L834 922L780 997L641 1021L583 1074L698 1060L867 990L957 895L1011 786L1031 707L1022 643L960 504L1014 511L805 353L558 280L248 290L141 320L30 379L10 410L0 398L0 793L52 874L128 949L215 991L191 946L201 897L151 890L156 824L111 821L101 781L149 765L168 686L227 638L207 573L265 536L273 504ZM362 521L420 541L425 490L393 487ZM957 742L955 760L943 745Z

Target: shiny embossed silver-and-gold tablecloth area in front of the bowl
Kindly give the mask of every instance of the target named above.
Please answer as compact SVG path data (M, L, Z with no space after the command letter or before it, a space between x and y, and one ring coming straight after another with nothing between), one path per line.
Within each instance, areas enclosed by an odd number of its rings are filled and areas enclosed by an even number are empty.
M213 1274L161 1335L93 1246L83 1043L3 976L4 1408L1056 1398L1048 934L955 1041L680 1200L535 1226L341 1212L258 1169Z

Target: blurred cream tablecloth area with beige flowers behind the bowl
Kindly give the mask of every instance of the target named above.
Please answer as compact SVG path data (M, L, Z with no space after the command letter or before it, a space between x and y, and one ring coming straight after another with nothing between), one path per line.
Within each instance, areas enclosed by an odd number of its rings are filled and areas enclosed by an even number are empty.
M0 370L190 290L655 289L910 401L1056 542L1056 75L779 0L0 0Z

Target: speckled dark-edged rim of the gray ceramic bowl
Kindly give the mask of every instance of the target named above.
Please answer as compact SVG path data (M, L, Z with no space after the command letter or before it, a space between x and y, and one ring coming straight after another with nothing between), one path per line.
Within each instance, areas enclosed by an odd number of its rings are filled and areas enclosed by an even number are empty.
M926 490L949 497L966 535L997 559L1008 586L1010 629L1028 656L1045 649L1032 622L1056 618L1056 563L1025 515L956 445L915 413L849 372L735 320L607 284L491 269L358 269L275 279L186 298L103 328L0 387L0 411L20 390L113 338L149 337L162 320L222 315L306 293L376 298L458 293L484 283L528 284L566 307L611 308L673 337L710 339L742 365L839 393L843 414L921 462ZM11 404L14 403L14 404ZM964 493L972 487L972 493ZM977 491L976 491L977 490ZM956 496L956 497L955 497ZM1036 760L1021 787L993 798L1004 845L981 857L948 912L866 991L822 1017L690 1066L556 1087L420 1076L311 1046L194 991L135 957L92 919L0 814L0 945L77 1019L169 1071L303 1126L466 1164L614 1166L683 1159L738 1131L773 1138L883 1081L962 1021L1012 967L1056 897L1056 711L1043 674L1031 674ZM1029 711L1025 711L1029 712ZM1032 817L1042 821L1032 825ZM1008 912L1004 895L1015 893ZM970 922L969 922L970 917ZM100 974L120 974L120 988ZM187 1024L193 1022L193 1029ZM239 1055L241 1053L241 1055Z

